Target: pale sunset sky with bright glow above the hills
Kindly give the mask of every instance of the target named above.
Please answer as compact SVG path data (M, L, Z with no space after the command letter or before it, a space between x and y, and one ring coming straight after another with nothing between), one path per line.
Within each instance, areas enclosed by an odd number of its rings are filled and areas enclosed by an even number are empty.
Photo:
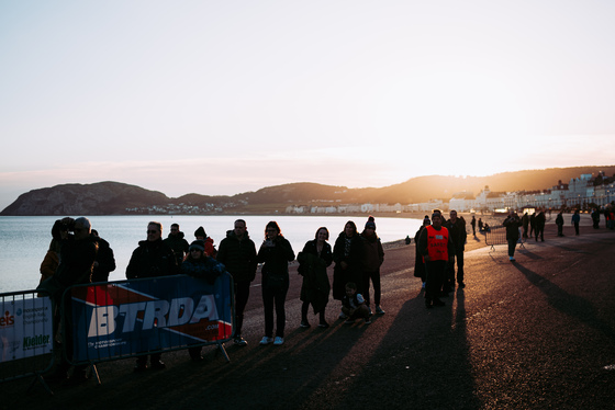
M0 2L0 209L615 164L615 2Z

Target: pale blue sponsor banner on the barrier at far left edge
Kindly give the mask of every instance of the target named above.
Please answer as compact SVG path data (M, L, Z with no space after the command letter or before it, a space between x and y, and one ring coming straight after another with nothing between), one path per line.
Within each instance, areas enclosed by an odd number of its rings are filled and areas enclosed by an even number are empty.
M0 363L52 352L52 300L23 296L0 297Z

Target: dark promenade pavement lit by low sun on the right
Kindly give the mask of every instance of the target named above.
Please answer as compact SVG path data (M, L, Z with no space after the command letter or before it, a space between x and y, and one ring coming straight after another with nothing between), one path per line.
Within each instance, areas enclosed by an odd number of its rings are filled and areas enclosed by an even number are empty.
M568 220L567 220L568 221ZM426 309L413 276L414 244L387 250L383 316L301 329L298 288L287 301L282 346L260 346L260 289L246 312L249 345L231 363L205 348L203 363L168 353L168 368L133 374L133 361L98 366L102 385L0 385L0 409L612 409L615 408L615 232L552 223L508 261L506 246L468 237L466 283ZM291 273L292 275L293 273Z

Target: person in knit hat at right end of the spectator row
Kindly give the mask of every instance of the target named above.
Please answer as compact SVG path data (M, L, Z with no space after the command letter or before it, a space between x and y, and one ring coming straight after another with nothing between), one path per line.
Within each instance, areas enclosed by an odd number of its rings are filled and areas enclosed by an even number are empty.
M370 298L369 298L369 283L373 283L373 304L376 305L376 314L384 315L384 310L380 307L381 299L381 285L380 285L380 266L384 262L384 250L382 242L378 235L376 235L376 221L373 216L369 216L364 231L360 234L364 243L362 255L362 295L366 299L366 305L371 315Z

